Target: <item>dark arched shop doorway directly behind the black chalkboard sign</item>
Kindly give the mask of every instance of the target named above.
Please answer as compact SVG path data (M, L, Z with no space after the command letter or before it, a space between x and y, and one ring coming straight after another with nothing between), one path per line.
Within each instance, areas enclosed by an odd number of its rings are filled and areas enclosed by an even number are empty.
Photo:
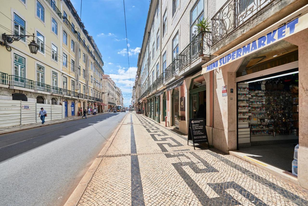
M193 78L189 94L189 118L206 119L206 86L202 75Z

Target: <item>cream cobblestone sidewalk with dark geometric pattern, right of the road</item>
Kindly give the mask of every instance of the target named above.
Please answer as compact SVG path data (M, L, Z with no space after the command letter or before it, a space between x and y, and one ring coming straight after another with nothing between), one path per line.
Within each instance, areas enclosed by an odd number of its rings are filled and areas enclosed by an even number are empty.
M186 136L127 115L78 205L308 205L301 187L189 145Z

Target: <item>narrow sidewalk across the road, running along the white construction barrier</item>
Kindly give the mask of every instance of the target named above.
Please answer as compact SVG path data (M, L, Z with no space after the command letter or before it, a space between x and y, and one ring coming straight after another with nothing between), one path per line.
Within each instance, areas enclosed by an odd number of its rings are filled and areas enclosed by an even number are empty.
M89 115L89 116L87 115L87 117L103 115L103 114L107 114L107 113L98 113L96 115ZM0 128L0 134L5 134L5 133L8 133L8 132L16 132L16 131L20 131L20 130L24 130L24 129L35 128L35 127L42 127L42 126L46 126L46 125L50 125L50 124L58 124L58 123L61 123L61 122L77 120L77 119L80 119L80 118L81 118L81 116L74 116L74 117L67 117L67 118L61 119L61 120L46 121L44 124L39 122L39 123L22 124L22 125L16 125L16 126L11 126L11 127L5 127L5 128Z

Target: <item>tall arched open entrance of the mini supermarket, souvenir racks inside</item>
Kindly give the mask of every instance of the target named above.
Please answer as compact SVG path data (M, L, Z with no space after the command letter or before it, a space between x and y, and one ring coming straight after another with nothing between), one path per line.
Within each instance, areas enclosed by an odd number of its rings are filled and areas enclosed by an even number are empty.
M278 52L281 48L284 49L282 53ZM264 53L246 57L236 72L236 79L246 78L237 82L240 152L288 174L292 172L299 132L296 49L290 44L274 45Z

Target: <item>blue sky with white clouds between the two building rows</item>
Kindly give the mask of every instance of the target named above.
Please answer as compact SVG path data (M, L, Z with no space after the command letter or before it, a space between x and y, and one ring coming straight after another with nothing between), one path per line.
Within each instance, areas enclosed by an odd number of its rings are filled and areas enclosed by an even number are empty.
M71 0L71 2L80 16L81 0ZM130 69L128 69L123 0L82 1L81 21L89 35L93 36L103 55L105 74L110 75L122 90L126 106L131 104L132 95L129 83L132 88L149 4L148 0L125 0L130 63Z

